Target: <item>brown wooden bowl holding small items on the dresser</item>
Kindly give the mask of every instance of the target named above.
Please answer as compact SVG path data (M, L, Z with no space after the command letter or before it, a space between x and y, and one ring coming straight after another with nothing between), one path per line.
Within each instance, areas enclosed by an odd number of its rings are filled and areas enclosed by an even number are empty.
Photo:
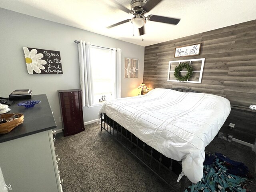
M14 118L14 116L18 116L18 118ZM6 134L13 130L16 126L20 125L24 121L24 116L22 113L9 113L9 114L0 114L0 120L5 119L9 122L0 124L0 134Z

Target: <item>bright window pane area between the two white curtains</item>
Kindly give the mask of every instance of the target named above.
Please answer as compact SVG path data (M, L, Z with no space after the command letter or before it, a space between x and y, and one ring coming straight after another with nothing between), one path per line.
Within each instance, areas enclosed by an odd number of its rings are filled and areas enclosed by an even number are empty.
M111 49L90 48L92 104L115 98L115 54Z

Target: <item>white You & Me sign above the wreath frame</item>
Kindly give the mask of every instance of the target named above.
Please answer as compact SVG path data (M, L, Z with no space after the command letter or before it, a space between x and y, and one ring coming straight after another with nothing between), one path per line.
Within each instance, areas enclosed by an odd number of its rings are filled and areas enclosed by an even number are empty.
M176 47L174 57L187 57L200 54L201 44L190 45L186 47Z

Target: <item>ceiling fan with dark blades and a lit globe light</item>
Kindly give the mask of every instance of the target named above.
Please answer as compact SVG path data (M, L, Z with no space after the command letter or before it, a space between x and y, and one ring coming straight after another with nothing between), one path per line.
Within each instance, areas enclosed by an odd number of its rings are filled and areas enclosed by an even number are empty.
M126 19L124 21L110 25L107 28L112 28L120 24L124 24L131 21L134 27L139 29L140 35L144 35L145 34L144 25L146 24L147 20L154 21L154 22L167 23L167 24L174 24L174 25L178 24L178 22L180 22L180 19L158 16L158 15L148 15L148 16L144 15L150 12L150 10L152 10L152 8L154 8L161 1L162 0L132 0L132 2L130 3L131 10L124 7L120 3L115 2L115 4L121 10L123 10L128 14L133 14L134 17L131 19Z

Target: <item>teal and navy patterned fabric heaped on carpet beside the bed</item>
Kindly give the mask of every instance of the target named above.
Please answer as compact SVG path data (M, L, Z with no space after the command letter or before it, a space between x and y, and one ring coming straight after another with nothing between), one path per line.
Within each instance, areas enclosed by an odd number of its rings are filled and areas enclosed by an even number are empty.
M241 162L222 154L208 154L204 162L204 176L184 192L248 192L248 168Z

